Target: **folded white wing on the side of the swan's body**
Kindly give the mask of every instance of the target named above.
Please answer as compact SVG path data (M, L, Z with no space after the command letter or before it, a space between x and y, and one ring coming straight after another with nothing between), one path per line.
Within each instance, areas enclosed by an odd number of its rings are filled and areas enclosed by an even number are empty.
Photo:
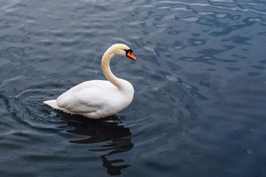
M58 97L57 105L71 112L95 112L108 103L108 98L97 89L65 93Z

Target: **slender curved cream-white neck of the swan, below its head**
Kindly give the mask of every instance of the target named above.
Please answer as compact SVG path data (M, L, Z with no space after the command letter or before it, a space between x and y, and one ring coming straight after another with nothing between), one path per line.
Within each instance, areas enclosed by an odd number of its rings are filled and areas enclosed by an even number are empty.
M115 75L113 75L113 73L110 70L110 61L112 59L113 56L115 56L116 53L114 50L112 49L108 49L102 56L102 71L103 74L105 75L105 77L116 87L118 87L118 89L122 88L121 82L120 82L120 78L116 77Z

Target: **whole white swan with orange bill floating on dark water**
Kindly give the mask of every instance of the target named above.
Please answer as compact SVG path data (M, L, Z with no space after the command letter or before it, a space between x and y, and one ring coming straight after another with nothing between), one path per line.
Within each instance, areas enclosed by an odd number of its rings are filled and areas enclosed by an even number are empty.
M121 43L112 45L102 56L102 70L107 80L89 80L60 95L56 100L44 101L54 109L98 119L126 108L133 100L134 88L130 82L118 78L110 70L115 55L127 56L136 61L133 51Z

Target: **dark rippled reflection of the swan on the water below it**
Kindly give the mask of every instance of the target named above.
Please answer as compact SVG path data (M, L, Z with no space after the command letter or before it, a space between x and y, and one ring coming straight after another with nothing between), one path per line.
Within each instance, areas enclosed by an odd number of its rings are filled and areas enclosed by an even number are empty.
M89 136L89 138L82 140L69 141L70 143L91 144L108 142L100 149L90 149L94 152L106 152L101 155L104 167L107 168L107 173L110 175L120 175L123 168L130 165L115 166L114 163L124 162L124 159L108 160L107 156L127 152L131 150L134 144L130 138L125 138L131 135L128 127L121 125L125 117L111 116L100 120L87 119L84 117L72 117L67 121L67 126L72 126L74 129L67 130L67 132L76 135Z

